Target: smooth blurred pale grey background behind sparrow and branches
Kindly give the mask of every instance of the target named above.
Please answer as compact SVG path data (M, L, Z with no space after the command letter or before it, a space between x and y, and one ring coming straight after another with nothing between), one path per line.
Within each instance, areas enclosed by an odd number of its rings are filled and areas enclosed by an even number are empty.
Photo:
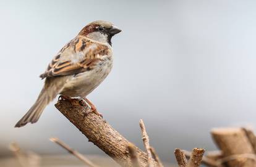
M14 129L35 102L38 77L53 56L93 20L123 31L114 67L90 94L104 118L143 149L143 118L163 160L176 147L216 149L210 129L256 127L256 1L0 1L0 155L12 141L42 154L101 152L54 107Z

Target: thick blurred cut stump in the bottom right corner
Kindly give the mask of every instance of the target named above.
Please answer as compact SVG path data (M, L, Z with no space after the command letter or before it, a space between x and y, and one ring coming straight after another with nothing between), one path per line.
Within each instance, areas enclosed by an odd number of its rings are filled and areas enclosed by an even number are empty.
M245 156L253 155L254 148L242 128L215 128L211 130L211 136L225 159L239 155L237 158L230 158L227 161L228 166L256 167L254 158Z

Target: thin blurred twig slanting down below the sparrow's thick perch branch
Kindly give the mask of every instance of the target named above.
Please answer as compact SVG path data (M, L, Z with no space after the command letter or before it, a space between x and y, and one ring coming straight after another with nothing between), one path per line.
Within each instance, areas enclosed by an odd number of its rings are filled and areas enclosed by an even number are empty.
M52 141L52 142L55 142L56 144L60 145L62 148L66 149L69 153L71 153L75 157L79 158L79 160L83 161L83 163L85 163L86 165L91 166L91 167L98 167L95 164L93 164L92 161L88 160L88 158L84 157L81 153L71 149L69 147L69 145L65 144L64 142L62 142L58 138L52 137L49 140Z

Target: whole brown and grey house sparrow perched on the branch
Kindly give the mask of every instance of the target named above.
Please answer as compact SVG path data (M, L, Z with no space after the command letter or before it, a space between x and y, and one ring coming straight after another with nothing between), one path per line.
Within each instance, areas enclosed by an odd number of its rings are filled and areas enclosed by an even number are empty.
M110 22L95 21L85 26L49 63L35 104L15 127L38 121L41 113L58 94L63 97L86 97L109 74L113 63L111 38L121 30ZM93 111L95 106L85 98Z

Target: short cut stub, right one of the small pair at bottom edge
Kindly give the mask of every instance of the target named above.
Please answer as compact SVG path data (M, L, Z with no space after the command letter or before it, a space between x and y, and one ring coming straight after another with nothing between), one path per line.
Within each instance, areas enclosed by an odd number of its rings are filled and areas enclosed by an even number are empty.
M187 167L198 167L201 165L201 161L203 158L203 153L205 153L204 149L193 149L191 153L191 157L189 158L189 162L187 163Z

